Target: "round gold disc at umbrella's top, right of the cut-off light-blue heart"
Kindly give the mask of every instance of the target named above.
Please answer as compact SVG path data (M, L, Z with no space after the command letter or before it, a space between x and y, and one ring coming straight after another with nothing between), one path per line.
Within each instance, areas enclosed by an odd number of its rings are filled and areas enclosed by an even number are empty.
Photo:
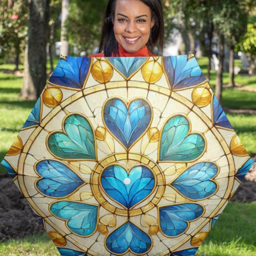
M163 75L163 69L157 61L150 60L141 68L141 74L147 83L154 84Z

